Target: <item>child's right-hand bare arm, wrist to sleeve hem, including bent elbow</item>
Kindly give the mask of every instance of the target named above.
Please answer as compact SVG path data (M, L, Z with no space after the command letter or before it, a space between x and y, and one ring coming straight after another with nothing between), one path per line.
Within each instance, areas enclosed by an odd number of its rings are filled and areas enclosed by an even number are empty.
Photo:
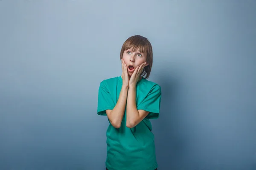
M138 125L147 115L148 111L137 110L136 87L129 86L126 107L126 126L129 128Z

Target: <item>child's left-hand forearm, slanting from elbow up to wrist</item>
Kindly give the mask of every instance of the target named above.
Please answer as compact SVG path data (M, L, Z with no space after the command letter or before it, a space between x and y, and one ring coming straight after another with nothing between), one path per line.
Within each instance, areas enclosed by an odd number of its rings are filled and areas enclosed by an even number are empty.
M111 124L116 128L119 128L121 126L122 118L125 112L127 93L128 86L122 86L116 106L109 114L109 120Z

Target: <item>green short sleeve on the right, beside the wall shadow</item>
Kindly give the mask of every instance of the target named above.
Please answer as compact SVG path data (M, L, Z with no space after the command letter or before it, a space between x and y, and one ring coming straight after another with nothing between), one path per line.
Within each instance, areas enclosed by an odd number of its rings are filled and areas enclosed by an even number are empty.
M155 85L145 99L137 106L137 109L149 111L145 117L146 119L157 119L160 111L161 97L161 87Z

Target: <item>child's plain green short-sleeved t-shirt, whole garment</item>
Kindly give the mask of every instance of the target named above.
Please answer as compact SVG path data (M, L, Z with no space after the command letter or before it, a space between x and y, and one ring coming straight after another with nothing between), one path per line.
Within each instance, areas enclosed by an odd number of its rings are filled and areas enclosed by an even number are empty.
M105 115L113 108L122 88L122 77L105 79L100 83L98 115ZM137 126L126 127L126 109L121 127L111 125L107 129L107 159L109 170L154 170L157 168L154 134L149 119L157 119L160 110L161 87L142 78L136 86L138 110L149 111Z

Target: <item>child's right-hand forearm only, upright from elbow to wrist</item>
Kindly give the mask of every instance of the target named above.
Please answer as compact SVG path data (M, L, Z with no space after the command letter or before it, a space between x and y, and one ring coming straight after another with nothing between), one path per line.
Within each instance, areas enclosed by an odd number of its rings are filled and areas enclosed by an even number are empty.
M139 111L136 105L136 87L131 86L128 90L127 107L126 107L126 126L134 127L139 117Z

